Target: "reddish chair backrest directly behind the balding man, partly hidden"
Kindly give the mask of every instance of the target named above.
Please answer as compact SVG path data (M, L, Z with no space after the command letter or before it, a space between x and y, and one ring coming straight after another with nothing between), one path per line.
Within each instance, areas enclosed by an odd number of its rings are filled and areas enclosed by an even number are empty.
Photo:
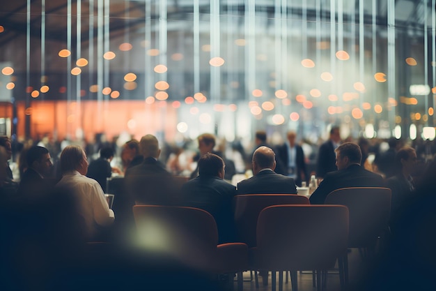
M238 241L256 246L256 225L260 211L279 204L310 204L305 196L295 194L246 194L233 198Z

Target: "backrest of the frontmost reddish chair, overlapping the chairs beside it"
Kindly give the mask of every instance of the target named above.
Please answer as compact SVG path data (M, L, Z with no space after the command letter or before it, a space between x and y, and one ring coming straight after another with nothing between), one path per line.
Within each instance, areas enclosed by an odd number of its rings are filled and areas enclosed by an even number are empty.
M272 270L330 269L346 254L348 209L343 205L274 205L260 212L260 265Z

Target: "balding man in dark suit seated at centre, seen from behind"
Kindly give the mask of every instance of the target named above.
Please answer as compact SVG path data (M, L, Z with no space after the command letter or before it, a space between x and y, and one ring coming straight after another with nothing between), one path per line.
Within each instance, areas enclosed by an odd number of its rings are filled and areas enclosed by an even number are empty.
M239 194L297 194L295 180L274 172L275 154L269 147L259 147L253 155L254 177L238 183Z

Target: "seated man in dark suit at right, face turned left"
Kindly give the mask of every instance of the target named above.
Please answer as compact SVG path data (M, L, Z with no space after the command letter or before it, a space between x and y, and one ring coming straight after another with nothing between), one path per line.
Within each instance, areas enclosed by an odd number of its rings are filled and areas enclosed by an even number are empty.
M335 151L338 170L325 175L309 199L311 204L324 204L325 197L339 188L384 187L382 176L360 166L361 149L357 144L345 142Z

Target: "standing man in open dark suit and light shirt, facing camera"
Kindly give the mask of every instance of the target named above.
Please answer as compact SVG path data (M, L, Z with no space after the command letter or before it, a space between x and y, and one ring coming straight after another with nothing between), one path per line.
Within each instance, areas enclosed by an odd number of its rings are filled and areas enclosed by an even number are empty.
M306 170L303 148L295 143L297 133L290 130L286 135L288 142L277 147L278 161L281 169L277 167L277 173L284 174L295 179L295 184L302 186L302 181L309 182L309 173Z

